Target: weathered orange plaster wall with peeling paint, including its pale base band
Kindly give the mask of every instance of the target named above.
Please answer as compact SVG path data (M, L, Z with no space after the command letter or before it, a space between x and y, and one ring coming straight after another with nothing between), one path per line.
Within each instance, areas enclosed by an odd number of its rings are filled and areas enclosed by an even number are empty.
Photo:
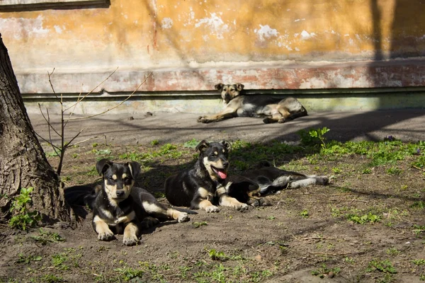
M0 33L23 93L50 92L53 68L64 92L86 91L116 67L108 91L130 91L148 71L145 91L236 79L250 88L423 86L424 12L421 0L111 0L0 11ZM370 68L387 76L370 80Z

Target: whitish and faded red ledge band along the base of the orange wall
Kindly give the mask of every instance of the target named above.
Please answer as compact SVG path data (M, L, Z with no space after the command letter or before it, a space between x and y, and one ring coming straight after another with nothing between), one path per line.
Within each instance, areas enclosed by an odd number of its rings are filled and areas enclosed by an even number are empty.
M52 93L46 70L17 70L21 93ZM52 75L56 93L88 93L113 73L111 71L57 70ZM254 64L254 66L203 66L182 69L118 69L95 91L108 93L211 91L219 82L244 83L246 89L308 90L338 88L402 88L425 86L425 59L380 62L309 62L300 64ZM149 76L150 74L150 76Z

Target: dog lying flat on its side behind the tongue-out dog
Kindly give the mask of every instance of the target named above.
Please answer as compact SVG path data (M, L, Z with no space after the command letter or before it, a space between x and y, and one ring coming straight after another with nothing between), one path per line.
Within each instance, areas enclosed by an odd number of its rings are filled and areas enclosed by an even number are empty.
M259 197L288 188L297 189L308 185L328 185L327 176L304 175L274 167L268 161L261 161L258 168L232 175L227 180L227 194L240 202L253 206L263 204Z

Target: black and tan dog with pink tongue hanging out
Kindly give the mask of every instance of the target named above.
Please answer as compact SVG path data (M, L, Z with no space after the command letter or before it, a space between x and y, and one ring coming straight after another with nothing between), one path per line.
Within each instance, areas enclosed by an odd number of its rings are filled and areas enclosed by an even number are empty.
M226 178L229 168L229 141L200 141L195 165L181 173L172 175L165 181L165 196L170 204L191 209L205 209L218 212L217 206L234 207L238 210L248 208L227 195Z

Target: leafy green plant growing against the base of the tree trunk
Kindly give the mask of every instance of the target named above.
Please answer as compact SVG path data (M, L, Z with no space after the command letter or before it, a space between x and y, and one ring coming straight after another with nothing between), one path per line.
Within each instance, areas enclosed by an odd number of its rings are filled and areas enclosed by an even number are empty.
M29 207L32 203L30 194L33 192L33 187L21 188L21 193L14 197L9 212L13 214L9 220L9 225L13 228L25 231L29 227L33 227L41 220L40 213L37 210L30 211Z

